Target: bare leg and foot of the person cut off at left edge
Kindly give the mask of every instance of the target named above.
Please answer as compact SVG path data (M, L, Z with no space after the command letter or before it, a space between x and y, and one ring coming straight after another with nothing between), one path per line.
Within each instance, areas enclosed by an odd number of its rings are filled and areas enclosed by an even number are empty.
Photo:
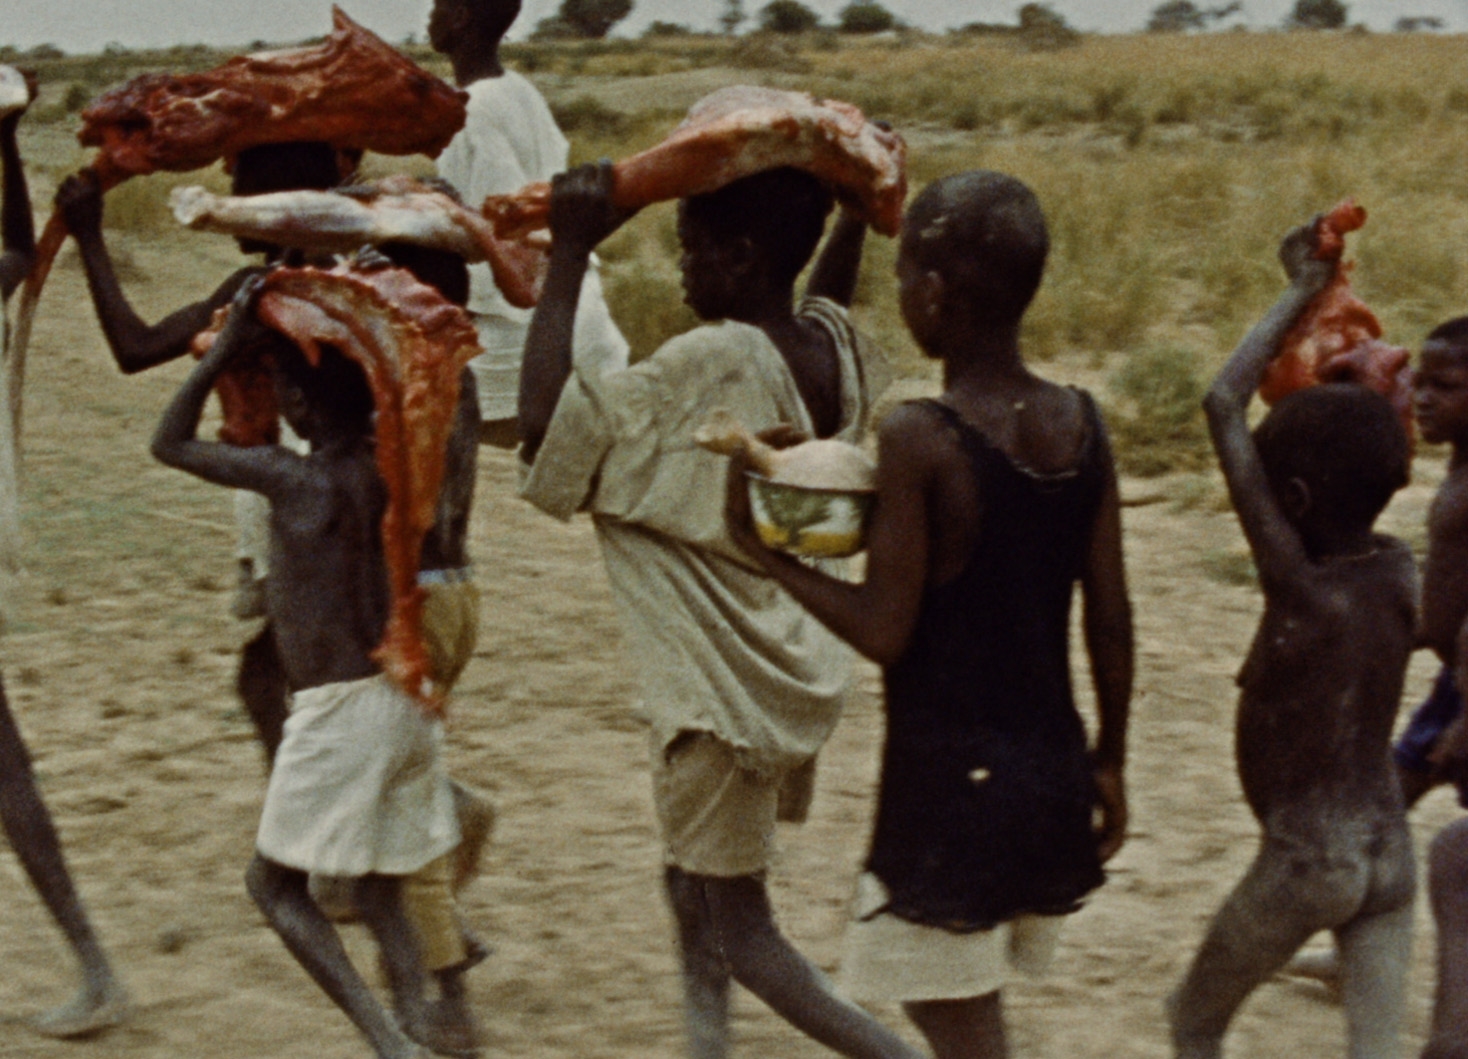
M82 1037L116 1025L128 1013L128 996L92 933L62 846L51 824L21 731L0 683L0 824L21 865L46 902L82 966L82 987L72 1000L32 1024L48 1037Z

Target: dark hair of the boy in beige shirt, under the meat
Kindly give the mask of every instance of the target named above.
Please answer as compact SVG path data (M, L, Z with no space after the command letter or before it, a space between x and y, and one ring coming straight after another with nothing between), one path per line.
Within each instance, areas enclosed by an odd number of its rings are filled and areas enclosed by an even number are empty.
M790 166L744 176L683 200L684 216L722 239L747 238L784 283L810 261L834 200L815 176Z

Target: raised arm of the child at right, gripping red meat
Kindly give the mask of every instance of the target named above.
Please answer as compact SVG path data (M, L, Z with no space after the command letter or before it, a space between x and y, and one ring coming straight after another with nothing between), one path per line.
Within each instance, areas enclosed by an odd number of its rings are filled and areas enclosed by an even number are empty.
M1299 533L1284 518L1270 491L1254 438L1249 436L1248 408L1265 369L1279 355L1284 335L1334 276L1333 261L1314 259L1311 231L1307 225L1284 236L1280 261L1290 285L1243 336L1202 402L1229 498L1265 586L1296 583L1295 576L1308 560Z

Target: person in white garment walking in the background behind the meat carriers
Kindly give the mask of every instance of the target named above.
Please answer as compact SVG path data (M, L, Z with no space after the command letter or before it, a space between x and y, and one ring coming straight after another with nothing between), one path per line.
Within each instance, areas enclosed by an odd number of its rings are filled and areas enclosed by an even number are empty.
M429 43L452 63L455 82L468 91L468 116L439 156L439 176L470 207L489 195L549 181L567 167L570 148L550 107L527 78L499 60L499 43L518 15L520 0L433 0L429 13ZM470 267L468 310L484 348L470 364L479 386L480 439L514 448L520 442L515 402L530 310L505 301L487 264ZM575 313L577 363L596 372L627 367L627 339L606 311L595 261L581 282Z

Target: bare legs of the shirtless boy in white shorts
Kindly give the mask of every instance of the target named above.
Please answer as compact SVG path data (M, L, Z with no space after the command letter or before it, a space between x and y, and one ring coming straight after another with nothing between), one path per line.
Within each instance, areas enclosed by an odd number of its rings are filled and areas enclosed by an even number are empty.
M257 853L245 872L245 886L285 947L346 1013L352 1025L361 1030L380 1059L423 1056L424 1052L398 1028L357 974L336 928L311 900L307 878L304 871L286 868ZM385 875L363 878L357 903L382 949L399 1016L407 1015L405 1021L413 1025L421 1015L423 971L417 965L413 931L398 908L398 881Z

